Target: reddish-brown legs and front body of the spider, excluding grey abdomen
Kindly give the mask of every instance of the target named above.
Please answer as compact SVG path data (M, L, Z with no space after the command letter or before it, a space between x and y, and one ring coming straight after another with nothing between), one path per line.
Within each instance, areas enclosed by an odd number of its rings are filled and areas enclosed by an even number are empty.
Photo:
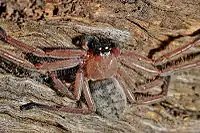
M163 98L163 96L167 94L170 80L168 78L169 74L177 70L193 68L200 65L200 61L193 61L184 65L175 65L167 68L158 67L168 62L172 57L181 55L181 53L185 53L189 49L197 47L200 45L200 40L196 40L190 44L169 52L156 60L153 60L137 55L133 51L127 51L123 49L120 50L115 43L112 43L112 41L105 42L95 36L82 37L80 40L80 44L82 46L81 49L39 49L15 40L11 36L7 35L2 28L0 28L0 38L2 41L16 46L26 54L31 53L36 57L53 59L54 61L46 60L42 63L31 63L24 58L16 58L15 55L3 49L0 50L0 56L3 59L18 64L26 69L38 72L48 72L54 82L54 87L61 93L67 95L69 98L78 101L83 93L88 106L88 109L83 109L29 103L27 104L28 106L22 106L22 109L28 109L32 106L37 106L70 113L91 113L94 111L94 103L91 98L88 81L106 78L114 79L115 83L116 81L119 82L130 103L146 103L149 101L155 101ZM155 75L157 78L147 84L136 86L132 79L128 76L127 72L124 70L123 65L126 65L131 69L140 69L141 71ZM71 91L68 90L68 87L65 85L65 83L58 78L57 72L76 66L78 66L78 70L76 73L76 78L73 85L74 90L72 94ZM135 92L152 88L153 86L163 82L164 85L162 86L162 92L160 94L142 100L135 98Z

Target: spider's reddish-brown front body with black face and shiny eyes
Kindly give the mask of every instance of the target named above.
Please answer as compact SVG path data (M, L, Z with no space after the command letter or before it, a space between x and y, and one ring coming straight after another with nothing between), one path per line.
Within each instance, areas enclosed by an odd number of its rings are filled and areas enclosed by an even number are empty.
M113 77L118 69L119 49L114 44L101 44L97 37L84 36L82 47L87 51L83 68L90 80Z

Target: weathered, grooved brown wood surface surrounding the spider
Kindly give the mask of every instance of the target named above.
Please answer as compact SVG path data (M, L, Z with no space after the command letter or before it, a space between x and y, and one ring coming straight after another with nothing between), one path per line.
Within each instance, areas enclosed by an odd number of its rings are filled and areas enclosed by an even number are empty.
M199 0L3 0L0 6L0 25L33 46L75 47L71 38L95 34L156 58L200 36ZM3 42L0 46L23 56ZM0 70L1 132L200 132L198 68L172 76L166 101L127 105L118 120L37 108L20 111L19 106L30 101L69 106L74 102L35 80L36 73L30 78Z

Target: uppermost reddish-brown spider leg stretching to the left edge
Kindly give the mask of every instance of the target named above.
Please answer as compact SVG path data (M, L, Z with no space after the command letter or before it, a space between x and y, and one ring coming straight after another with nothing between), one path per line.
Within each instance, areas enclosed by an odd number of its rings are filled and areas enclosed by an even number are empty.
M20 42L11 36L7 35L6 31L0 27L0 39L13 46L16 46L25 53L32 53L40 57L53 57L53 58L76 58L86 55L85 50L81 49L53 49L42 50L33 46L29 46Z

